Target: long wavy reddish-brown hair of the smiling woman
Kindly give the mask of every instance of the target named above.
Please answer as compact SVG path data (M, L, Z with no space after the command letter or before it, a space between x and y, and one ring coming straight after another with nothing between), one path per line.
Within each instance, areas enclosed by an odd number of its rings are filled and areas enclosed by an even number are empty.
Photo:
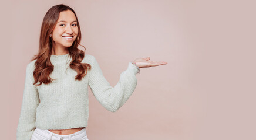
M52 6L46 12L45 17L43 18L42 26L41 26L41 33L39 39L39 50L38 54L34 55L31 61L35 61L35 70L33 71L33 77L35 82L33 85L39 82L38 85L49 84L54 79L50 78L50 74L54 69L54 66L50 62L50 56L52 55L52 38L50 38L50 34L52 33L57 20L59 19L59 13L62 11L71 10L75 16L75 11L67 5L55 5ZM91 69L90 64L81 63L83 58L85 57L85 51L80 50L78 45L80 45L81 41L81 30L80 25L78 22L78 17L76 16L77 26L78 26L78 36L76 40L73 42L72 46L68 47L69 55L72 58L70 61L69 67L74 69L78 75L76 75L76 80L81 80L86 74L87 71ZM82 45L80 45L82 46ZM85 48L85 46L83 46ZM86 50L86 48L85 48Z

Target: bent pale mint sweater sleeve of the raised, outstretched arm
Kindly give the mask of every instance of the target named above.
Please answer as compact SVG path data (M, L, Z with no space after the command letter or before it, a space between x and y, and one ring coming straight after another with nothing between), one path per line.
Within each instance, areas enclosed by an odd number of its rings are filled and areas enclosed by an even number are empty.
M129 62L127 69L120 74L118 83L112 87L103 76L96 58L92 57L92 69L89 74L90 89L103 107L115 112L126 103L136 88L138 69L132 62Z

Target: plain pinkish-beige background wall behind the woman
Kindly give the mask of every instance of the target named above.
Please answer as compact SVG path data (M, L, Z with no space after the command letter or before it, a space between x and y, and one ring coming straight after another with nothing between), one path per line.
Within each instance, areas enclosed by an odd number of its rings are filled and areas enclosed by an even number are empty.
M2 1L1 139L16 139L25 67L38 51L43 16L72 7L81 44L112 86L137 57L167 61L142 68L116 113L89 90L93 139L255 139L255 2Z

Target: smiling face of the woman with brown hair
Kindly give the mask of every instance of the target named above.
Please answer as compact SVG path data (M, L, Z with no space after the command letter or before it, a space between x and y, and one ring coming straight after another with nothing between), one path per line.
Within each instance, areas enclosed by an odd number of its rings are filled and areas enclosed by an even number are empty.
M66 50L72 46L78 36L76 16L71 10L59 13L59 19L52 31L53 49ZM63 49L64 48L64 49Z

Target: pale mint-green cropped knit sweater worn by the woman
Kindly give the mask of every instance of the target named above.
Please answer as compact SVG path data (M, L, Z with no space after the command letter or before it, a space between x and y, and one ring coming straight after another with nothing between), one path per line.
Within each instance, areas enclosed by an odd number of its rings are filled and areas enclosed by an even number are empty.
M117 84L112 87L103 76L96 58L85 54L82 63L92 69L82 80L75 80L76 71L69 67L71 57L51 55L54 69L49 75L50 84L33 85L35 61L26 66L25 88L21 104L21 114L16 132L17 140L30 140L36 127L40 129L70 129L87 127L89 117L88 85L93 96L108 111L115 112L132 95L137 85L138 69L129 62L120 74ZM68 68L68 69L67 69ZM39 82L38 82L39 83Z

